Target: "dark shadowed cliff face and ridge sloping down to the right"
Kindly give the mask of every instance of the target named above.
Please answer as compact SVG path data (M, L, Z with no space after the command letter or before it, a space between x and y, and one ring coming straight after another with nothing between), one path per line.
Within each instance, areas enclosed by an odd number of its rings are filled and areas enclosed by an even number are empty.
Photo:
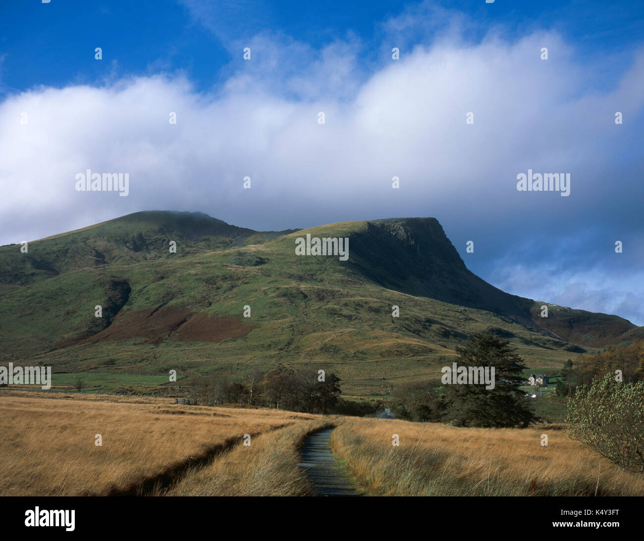
M542 318L541 302L506 293L469 271L435 218L369 222L352 236L351 261L355 271L388 289L488 310L575 344L603 347L644 334L618 316L555 305Z

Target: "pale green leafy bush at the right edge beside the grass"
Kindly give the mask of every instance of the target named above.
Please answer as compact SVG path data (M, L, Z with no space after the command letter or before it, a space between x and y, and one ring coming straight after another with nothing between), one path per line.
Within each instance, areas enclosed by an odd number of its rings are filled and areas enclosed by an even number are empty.
M644 382L594 377L570 399L566 422L572 439L624 470L644 471Z

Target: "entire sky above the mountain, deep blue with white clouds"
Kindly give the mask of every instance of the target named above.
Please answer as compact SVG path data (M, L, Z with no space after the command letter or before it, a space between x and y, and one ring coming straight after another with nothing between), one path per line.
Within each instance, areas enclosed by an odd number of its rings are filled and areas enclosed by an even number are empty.
M2 3L0 244L147 209L435 216L493 285L643 325L643 23L639 1ZM87 168L130 195L75 191ZM516 191L529 168L571 195Z

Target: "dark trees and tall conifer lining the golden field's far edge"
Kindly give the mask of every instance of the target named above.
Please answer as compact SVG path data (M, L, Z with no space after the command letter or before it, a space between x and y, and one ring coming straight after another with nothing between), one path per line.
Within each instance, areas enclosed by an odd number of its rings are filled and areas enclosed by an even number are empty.
M480 384L442 385L440 381L410 383L392 395L392 413L408 421L446 422L455 426L525 427L535 420L526 394L520 357L509 341L489 332L471 337L465 348L457 348L462 366L495 366L495 387ZM193 404L218 406L245 404L306 413L374 415L383 403L341 399L340 379L326 374L320 381L317 370L276 368L254 371L243 378L230 375L194 377L188 385Z

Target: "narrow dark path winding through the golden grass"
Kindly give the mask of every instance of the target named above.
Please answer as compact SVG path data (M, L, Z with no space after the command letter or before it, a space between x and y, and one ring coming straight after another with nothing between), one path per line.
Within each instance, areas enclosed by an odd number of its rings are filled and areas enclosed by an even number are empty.
M304 442L298 466L304 468L316 496L359 496L345 475L338 470L329 447L335 428L312 433Z

